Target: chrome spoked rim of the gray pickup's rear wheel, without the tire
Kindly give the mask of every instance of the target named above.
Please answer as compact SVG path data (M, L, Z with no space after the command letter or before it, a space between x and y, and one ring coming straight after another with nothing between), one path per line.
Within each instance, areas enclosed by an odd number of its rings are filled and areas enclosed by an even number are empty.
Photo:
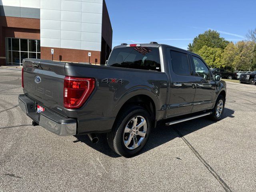
M124 129L124 145L130 150L138 148L144 141L146 133L146 119L142 116L133 117Z

